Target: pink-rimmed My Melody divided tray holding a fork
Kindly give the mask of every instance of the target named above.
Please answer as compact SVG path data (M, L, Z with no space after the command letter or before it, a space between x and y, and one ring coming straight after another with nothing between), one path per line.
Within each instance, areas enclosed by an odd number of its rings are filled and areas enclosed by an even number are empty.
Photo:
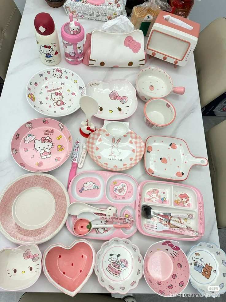
M164 230L162 232L150 231L145 228L147 222L160 222L169 228L175 226L160 220L157 217L146 219L142 217L142 206L149 205L156 211L162 213L181 213L187 214L187 218L163 216L182 223L187 226L187 229L179 229L179 232L174 230ZM157 214L158 215L158 214ZM172 240L198 240L201 237L185 235L189 229L196 230L204 234L204 205L201 192L192 186L181 185L173 182L165 181L142 181L138 185L136 199L136 224L138 230L146 235L158 238L166 238Z

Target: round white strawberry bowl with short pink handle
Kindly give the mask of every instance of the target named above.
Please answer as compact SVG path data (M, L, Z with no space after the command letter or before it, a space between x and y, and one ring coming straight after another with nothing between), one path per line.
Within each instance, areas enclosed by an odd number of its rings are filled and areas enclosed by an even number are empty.
M137 75L135 88L138 96L145 102L151 98L166 97L171 92L185 93L185 87L173 87L169 74L156 67L142 69Z

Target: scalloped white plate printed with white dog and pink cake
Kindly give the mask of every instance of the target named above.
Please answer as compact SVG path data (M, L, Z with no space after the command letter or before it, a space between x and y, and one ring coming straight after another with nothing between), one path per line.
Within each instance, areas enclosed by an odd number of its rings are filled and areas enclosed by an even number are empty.
M96 254L95 274L99 284L111 293L126 294L142 277L143 257L128 239L112 238Z

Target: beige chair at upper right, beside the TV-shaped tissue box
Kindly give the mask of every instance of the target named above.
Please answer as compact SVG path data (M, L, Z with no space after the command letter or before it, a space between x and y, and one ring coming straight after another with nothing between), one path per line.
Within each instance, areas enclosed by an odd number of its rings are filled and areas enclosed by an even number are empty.
M194 50L201 108L226 91L226 18L201 31Z

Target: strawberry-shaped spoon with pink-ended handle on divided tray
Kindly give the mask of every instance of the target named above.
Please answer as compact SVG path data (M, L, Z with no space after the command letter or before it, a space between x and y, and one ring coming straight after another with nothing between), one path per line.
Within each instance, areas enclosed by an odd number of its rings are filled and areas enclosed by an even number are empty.
M105 225L106 228L131 228L131 225ZM103 225L92 225L92 223L88 219L77 219L73 225L73 231L76 236L85 236L87 235L93 228L103 228Z

